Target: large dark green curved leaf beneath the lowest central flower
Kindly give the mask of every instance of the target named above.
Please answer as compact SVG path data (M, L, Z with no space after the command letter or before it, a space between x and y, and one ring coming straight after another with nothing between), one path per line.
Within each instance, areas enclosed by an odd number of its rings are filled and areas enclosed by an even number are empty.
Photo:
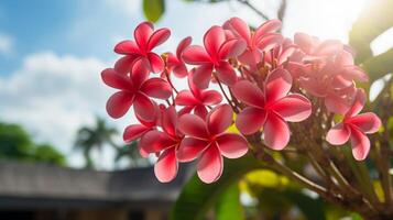
M171 213L172 220L204 219L206 212L214 206L219 196L244 174L256 168L263 168L263 164L252 156L243 156L239 160L225 160L222 176L215 184L204 184L197 175L184 186Z

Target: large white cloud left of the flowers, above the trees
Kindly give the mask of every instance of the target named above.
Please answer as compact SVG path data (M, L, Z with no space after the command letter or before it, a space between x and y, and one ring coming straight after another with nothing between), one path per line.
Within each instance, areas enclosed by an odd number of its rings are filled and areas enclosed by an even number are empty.
M77 129L92 124L95 114L106 117L105 103L111 94L100 80L106 66L96 58L52 52L29 55L13 74L0 77L1 120L20 123L36 141L69 154ZM110 166L110 155L106 158L101 167ZM80 166L83 160L74 154L70 163Z

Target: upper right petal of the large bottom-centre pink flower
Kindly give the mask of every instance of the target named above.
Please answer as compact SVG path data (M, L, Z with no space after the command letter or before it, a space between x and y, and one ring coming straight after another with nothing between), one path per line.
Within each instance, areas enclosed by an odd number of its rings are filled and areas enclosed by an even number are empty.
M214 108L207 114L207 128L210 135L225 132L232 124L233 111L229 105L221 105Z

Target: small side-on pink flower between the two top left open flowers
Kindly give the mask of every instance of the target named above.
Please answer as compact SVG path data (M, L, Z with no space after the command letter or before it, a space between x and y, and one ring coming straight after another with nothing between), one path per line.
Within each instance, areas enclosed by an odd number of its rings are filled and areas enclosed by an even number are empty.
M184 78L188 75L186 64L183 61L183 52L192 44L192 37L187 36L181 41L177 46L176 55L167 53L166 67L170 72L173 72L176 77Z

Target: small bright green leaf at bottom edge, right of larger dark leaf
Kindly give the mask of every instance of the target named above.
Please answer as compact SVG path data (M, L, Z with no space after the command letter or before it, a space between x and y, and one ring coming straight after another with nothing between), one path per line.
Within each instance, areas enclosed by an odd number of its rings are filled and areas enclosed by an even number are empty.
M243 207L240 204L240 190L238 183L232 184L219 198L216 205L217 220L244 219Z

